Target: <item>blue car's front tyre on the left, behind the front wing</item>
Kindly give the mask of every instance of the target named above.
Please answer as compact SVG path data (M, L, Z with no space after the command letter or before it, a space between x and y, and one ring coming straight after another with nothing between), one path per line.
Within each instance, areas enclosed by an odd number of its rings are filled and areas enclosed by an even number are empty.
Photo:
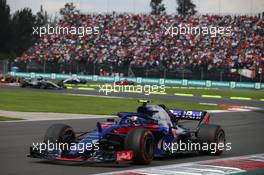
M75 142L76 136L72 127L65 124L51 125L44 136L44 143L67 143Z

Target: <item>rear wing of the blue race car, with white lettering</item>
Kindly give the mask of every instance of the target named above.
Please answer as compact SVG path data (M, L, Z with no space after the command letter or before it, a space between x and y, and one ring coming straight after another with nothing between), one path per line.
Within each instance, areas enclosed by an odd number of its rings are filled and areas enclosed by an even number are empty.
M178 110L173 109L169 110L176 120L196 120L200 123L209 123L210 114L206 111L187 111L187 110Z

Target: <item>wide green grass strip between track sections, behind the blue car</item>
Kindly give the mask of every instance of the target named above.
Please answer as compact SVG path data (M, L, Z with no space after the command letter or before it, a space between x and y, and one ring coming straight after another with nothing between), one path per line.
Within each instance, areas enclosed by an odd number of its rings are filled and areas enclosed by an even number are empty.
M52 92L26 90L0 90L0 109L24 112L57 112L79 114L116 114L119 111L135 112L139 104L136 99L75 96ZM155 104L166 104L170 108L214 110L220 106L201 105L191 102L152 100Z

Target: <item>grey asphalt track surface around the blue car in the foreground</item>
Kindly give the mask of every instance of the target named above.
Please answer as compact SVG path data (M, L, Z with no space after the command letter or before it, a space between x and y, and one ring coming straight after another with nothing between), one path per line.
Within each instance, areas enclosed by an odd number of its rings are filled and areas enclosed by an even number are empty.
M94 91L52 91L61 93L82 93L96 95ZM100 94L102 95L102 94ZM135 98L142 98L140 94L122 94ZM249 105L263 107L263 102L238 101L228 99L205 99L199 97L175 97L150 95L149 98L166 98L167 100L210 102L222 104ZM32 121L32 122L10 122L0 123L0 170L1 174L63 174L83 175L97 174L111 171L143 168L131 164L91 164L83 165L61 165L52 164L39 159L27 157L29 146L32 142L41 142L46 129L53 123L65 123L71 125L77 132L94 128L97 121L105 119L78 119L63 121ZM264 111L236 112L236 113L215 113L212 115L212 123L223 126L226 132L227 142L232 143L232 150L221 156L201 156L198 154L179 154L173 158L155 159L149 166L169 165L186 163L192 161L208 160L242 156L249 154L264 153Z

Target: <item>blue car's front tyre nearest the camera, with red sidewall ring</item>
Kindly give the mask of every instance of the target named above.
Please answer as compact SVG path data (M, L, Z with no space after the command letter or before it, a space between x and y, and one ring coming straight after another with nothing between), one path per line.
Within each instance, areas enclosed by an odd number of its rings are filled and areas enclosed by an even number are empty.
M137 128L129 132L125 139L125 150L132 150L135 164L149 164L154 158L155 140L150 131Z

